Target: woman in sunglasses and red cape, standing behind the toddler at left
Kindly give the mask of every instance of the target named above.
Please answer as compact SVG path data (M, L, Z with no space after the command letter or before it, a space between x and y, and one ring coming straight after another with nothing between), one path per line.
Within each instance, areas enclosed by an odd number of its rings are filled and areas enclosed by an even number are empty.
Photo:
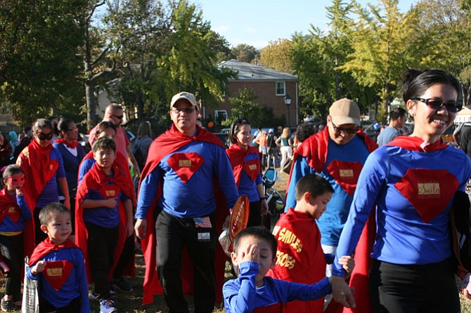
M70 209L70 194L65 178L62 156L51 144L53 125L49 119L37 119L33 126L33 140L22 150L16 164L25 172L25 194L34 208L36 244L47 238L41 231L39 211L51 202L59 201L59 190L64 195L64 206Z

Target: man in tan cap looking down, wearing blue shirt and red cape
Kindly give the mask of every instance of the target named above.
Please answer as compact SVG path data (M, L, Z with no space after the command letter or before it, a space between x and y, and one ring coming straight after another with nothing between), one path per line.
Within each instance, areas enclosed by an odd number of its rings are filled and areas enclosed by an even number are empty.
M335 101L329 109L327 126L304 140L293 157L285 211L296 206L295 186L305 175L321 175L335 191L317 221L324 253L335 253L361 168L368 154L378 147L361 130L360 118L360 108L354 101L347 98ZM332 265L328 265L327 277L331 269Z

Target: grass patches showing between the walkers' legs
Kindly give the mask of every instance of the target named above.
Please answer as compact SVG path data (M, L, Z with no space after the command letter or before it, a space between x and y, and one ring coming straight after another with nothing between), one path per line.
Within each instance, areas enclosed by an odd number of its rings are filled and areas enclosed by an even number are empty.
M277 181L275 184L275 188L282 194L282 196L285 193L285 186L288 180L288 175L283 173L280 175L281 180ZM276 222L275 219L272 220L272 227L274 223ZM131 286L134 288L134 291L132 293L119 293L115 296L115 306L118 309L118 312L120 313L167 313L169 312L165 302L163 295L155 295L154 296L154 302L150 305L141 305L142 302L142 294L143 294L143 273L144 273L144 268L145 265L143 264L143 258L141 253L136 254L136 278L135 279L130 279L129 277L127 278L127 282L131 284ZM231 274L231 268L230 265L227 263L226 264L226 274L225 274L226 279L233 279L233 275ZM459 284L459 283L458 283ZM3 294L5 289L4 289L4 279L1 279L0 281L0 294ZM186 297L188 305L190 306L190 309L192 309L192 297L188 296ZM471 313L471 300L466 299L463 297L463 295L460 295L460 301L461 301L461 312L462 313ZM91 305L91 312L93 313L99 313L99 305L97 300L90 300L90 305ZM15 311L17 313L20 313L20 311ZM223 313L224 308L214 308L215 313Z

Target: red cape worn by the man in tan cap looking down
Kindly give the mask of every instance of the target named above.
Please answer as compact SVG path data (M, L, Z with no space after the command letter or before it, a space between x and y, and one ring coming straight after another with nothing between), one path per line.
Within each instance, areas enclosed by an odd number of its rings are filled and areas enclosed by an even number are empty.
M373 152L378 145L376 145L373 140L371 140L366 133L359 130L356 135L365 142L366 148L369 152ZM297 147L292 162L294 166L297 156L306 157L309 166L314 168L317 173L321 173L323 167L325 166L325 160L327 159L328 154L328 143L329 143L329 131L328 126L324 128L322 132L311 135L311 137L304 140L299 147ZM290 186L290 178L288 179L288 185L286 188L286 193L288 194L288 187ZM363 228L361 237L359 239L359 244L356 246L354 260L355 268L351 273L350 277L350 287L355 288L355 301L356 309L347 309L344 308L344 312L370 312L370 296L368 288L368 271L371 265L371 252L373 251L373 242L376 237L376 225L375 225L375 210L370 215L366 227ZM373 217L373 218L372 218ZM369 308L369 309L368 309ZM338 305L337 302L331 301L330 305L325 312L341 312L342 306Z

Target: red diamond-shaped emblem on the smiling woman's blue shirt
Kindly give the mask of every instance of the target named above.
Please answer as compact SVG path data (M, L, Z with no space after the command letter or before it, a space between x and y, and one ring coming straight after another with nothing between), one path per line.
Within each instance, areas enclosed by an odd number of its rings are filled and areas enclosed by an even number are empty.
M446 170L408 169L394 187L411 202L423 222L430 222L450 203L458 180Z

